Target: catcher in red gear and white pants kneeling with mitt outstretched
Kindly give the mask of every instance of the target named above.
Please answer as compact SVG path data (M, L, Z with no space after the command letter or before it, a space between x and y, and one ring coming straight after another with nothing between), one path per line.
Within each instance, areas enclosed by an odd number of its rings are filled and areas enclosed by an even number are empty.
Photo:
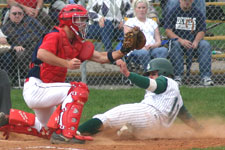
M66 5L58 19L59 26L37 44L24 84L24 100L35 115L16 109L11 109L9 116L0 113L0 131L6 138L9 132L17 132L51 139L52 143L82 144L92 140L77 133L88 87L82 82L64 83L67 70L79 69L85 60L113 63L133 48L143 46L129 39L137 39L139 31L135 29L125 37L121 50L95 51L91 42L84 41L88 12L82 5Z

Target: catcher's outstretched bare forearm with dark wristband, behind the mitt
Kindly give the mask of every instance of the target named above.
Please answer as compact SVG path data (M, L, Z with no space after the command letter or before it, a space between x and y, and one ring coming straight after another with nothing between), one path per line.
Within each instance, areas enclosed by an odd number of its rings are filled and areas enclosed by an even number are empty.
M113 52L98 52L94 51L93 56L91 57L91 61L95 61L98 63L113 63L115 60L123 57L124 54L118 50Z

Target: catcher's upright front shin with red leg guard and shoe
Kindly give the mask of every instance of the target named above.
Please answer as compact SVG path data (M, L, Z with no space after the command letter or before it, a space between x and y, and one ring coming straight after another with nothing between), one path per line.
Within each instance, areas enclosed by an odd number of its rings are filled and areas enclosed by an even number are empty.
M70 102L64 102L51 116L48 127L55 132L51 136L53 144L58 143L79 143L83 144L85 140L93 140L90 136L81 136L77 132L83 105L88 100L89 90L86 84L81 82L71 83L72 87L68 95L72 97ZM72 101L71 101L72 100ZM57 130L57 128L60 128Z

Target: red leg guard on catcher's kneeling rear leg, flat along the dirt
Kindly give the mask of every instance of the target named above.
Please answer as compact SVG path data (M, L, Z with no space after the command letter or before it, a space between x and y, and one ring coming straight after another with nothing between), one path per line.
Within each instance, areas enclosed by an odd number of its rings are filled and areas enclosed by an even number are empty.
M45 128L42 128L40 131L38 131L32 127L35 123L35 115L32 113L11 109L8 120L8 124L0 127L0 131L5 132L4 134L6 136L9 135L9 132L16 132L49 139L52 134L51 131Z

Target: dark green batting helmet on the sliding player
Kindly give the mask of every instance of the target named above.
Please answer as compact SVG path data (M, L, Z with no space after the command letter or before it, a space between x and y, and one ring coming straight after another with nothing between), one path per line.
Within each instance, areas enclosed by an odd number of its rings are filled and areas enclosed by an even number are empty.
M171 62L168 59L165 58L155 58L152 59L148 66L147 66L147 72L144 73L145 76L149 76L149 73L151 71L158 71L158 75L163 76L171 76L174 77L173 73L173 66Z

